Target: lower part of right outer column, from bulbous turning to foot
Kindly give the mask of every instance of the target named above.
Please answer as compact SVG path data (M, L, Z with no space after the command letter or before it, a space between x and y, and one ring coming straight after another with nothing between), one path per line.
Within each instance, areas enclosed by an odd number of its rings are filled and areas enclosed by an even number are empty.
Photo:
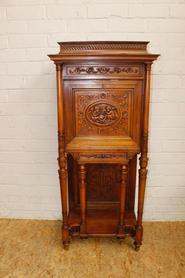
M137 213L137 225L136 225L136 236L135 236L135 250L139 250L142 239L143 239L143 207L144 207L144 195L147 177L147 163L148 158L146 153L141 154L140 157L140 169L139 169L139 192L138 192L138 213Z

